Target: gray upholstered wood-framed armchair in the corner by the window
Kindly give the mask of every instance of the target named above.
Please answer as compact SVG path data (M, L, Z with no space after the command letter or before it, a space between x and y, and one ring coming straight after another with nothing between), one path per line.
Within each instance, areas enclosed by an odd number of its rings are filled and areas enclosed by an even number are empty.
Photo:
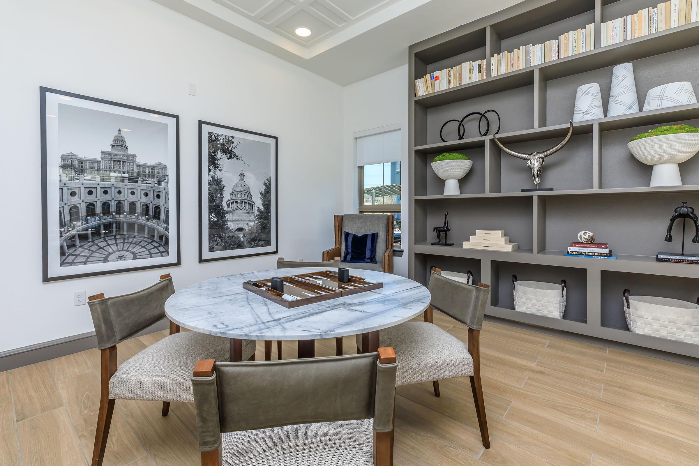
M379 233L376 242L376 263L343 263L347 268L363 268L393 273L394 216L384 214L345 214L335 216L335 247L323 252L324 261L342 257L345 252L343 231L356 235Z

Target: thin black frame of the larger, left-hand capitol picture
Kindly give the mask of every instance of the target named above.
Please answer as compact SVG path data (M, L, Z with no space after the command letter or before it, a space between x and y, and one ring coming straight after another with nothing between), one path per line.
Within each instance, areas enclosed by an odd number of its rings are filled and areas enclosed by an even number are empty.
M105 105L112 105L114 107L127 108L129 110L137 110L139 112L146 112L157 114L163 117L169 117L175 120L175 232L177 235L177 240L175 241L176 254L175 260L167 263L157 263L152 265L140 265L136 267L124 267L117 268L115 270L103 270L96 272L80 272L66 275L50 275L49 270L49 222L48 222L48 137L47 137L47 114L46 114L46 94L58 94L59 96L64 96L69 99L82 99L85 101L92 101L96 103L101 103ZM181 249L180 249L180 117L179 115L173 115L168 112L161 112L159 110L152 110L148 108L138 107L136 105L129 105L126 103L119 103L115 101L108 101L106 99L98 99L96 97L85 96L82 94L76 94L73 92L66 92L59 89L52 89L50 87L39 87L39 101L40 101L40 119L41 119L41 226L42 226L42 282L56 282L59 280L76 279L84 277L94 277L99 275L111 275L115 273L123 272L135 272L137 270L149 270L154 268L166 268L174 267L181 264ZM171 191L169 191L168 182L168 197L172 201ZM173 219L168 218L168 229L171 230L171 224ZM169 254L168 257L172 257ZM138 259L147 260L147 259ZM79 266L78 266L79 267Z

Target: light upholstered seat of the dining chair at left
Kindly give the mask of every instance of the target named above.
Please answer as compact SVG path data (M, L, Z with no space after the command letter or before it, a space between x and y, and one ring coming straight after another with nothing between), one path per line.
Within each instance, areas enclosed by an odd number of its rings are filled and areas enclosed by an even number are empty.
M173 333L124 361L109 381L109 398L194 402L192 367L203 356L229 361L229 339L199 332ZM255 354L243 340L243 361Z

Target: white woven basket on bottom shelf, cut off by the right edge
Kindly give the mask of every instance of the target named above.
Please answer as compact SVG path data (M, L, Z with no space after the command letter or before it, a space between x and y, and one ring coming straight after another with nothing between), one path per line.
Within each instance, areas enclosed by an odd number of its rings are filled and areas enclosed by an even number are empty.
M628 296L624 313L633 333L699 344L699 305L672 298Z

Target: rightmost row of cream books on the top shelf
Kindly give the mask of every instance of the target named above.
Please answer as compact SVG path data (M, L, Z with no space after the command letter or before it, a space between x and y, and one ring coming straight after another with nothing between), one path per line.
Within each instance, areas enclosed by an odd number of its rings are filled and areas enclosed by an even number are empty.
M602 46L630 41L699 20L699 0L672 0L602 24Z

